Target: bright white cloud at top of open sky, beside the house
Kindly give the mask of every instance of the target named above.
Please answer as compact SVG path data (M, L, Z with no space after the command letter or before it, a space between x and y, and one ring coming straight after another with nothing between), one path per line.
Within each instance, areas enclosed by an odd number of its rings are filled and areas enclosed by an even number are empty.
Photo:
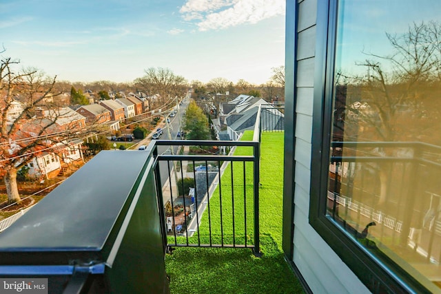
M285 14L284 0L189 0L181 8L186 21L198 20L198 30L222 30L258 23Z

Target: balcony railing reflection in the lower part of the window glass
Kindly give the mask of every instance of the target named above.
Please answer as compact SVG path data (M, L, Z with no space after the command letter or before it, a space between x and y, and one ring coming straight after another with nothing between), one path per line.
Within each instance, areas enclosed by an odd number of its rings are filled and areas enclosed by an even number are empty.
M423 275L427 288L439 285L441 148L334 142L331 154L327 216L387 266Z

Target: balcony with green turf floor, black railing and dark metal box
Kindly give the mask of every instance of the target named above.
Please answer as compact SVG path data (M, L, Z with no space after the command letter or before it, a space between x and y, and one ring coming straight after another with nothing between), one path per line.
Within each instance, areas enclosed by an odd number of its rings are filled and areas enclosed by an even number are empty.
M123 275L154 291L163 277L143 277L161 271L149 262L167 252L172 293L302 292L282 252L284 132L276 111L261 106L254 130L238 141L157 140L145 151L103 151L2 233L8 265L0 275L45 277L44 269L57 277L49 287L58 292L139 291L115 282ZM45 227L30 229L52 213ZM60 227L71 235L54 242Z

